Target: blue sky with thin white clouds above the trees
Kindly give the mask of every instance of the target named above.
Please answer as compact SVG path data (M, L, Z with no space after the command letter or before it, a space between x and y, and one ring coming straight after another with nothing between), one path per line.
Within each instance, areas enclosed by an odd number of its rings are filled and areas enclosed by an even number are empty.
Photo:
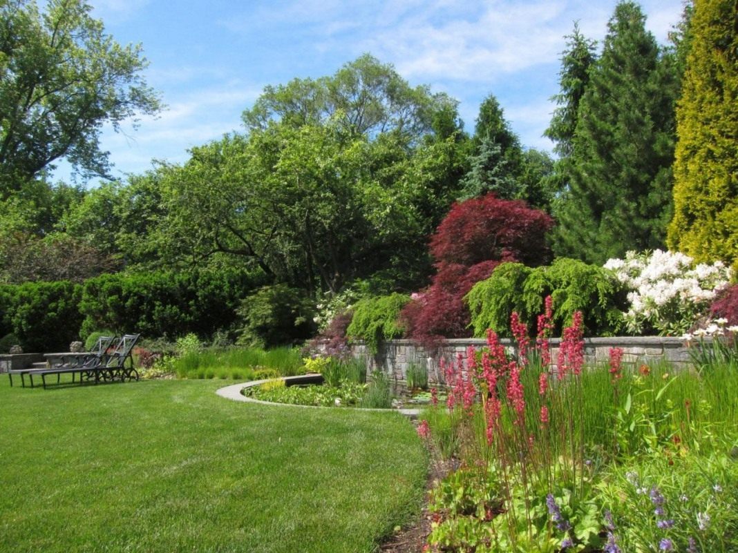
M106 129L114 175L152 159L179 163L187 149L241 129L241 112L266 85L333 74L370 52L413 85L459 100L472 131L494 94L526 147L542 137L559 91L559 55L573 21L601 40L615 0L91 0L121 44L141 43L148 84L168 109L137 130ZM665 42L682 0L642 0L646 26ZM60 164L55 178L69 169ZM91 183L94 184L94 183Z

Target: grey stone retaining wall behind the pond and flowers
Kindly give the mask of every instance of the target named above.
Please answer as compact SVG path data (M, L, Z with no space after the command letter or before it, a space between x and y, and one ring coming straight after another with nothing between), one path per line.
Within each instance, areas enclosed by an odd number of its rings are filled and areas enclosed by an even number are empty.
M556 361L560 338L551 338L552 359ZM510 340L500 340L508 349L514 349ZM380 345L379 352L371 355L364 344L353 347L356 358L365 358L369 372L382 371L393 380L406 380L407 367L410 365L425 366L428 370L429 383L443 381L438 361L446 358L449 361L458 353L466 357L466 349L474 346L477 349L486 346L483 339L453 339L435 351L426 349L412 340L390 340ZM620 347L624 351L623 361L627 363L643 364L657 361L668 361L677 367L689 365L689 349L681 338L661 337L615 337L615 338L584 338L584 356L587 364L607 362L610 357L610 348ZM692 344L692 347L697 347Z

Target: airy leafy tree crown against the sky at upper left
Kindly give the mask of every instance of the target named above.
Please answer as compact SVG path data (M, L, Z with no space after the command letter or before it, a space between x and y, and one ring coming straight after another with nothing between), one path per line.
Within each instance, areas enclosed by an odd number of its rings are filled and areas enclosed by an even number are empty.
M103 125L117 129L160 109L141 76L141 46L120 46L82 0L0 6L0 198L66 158L85 175L108 174Z

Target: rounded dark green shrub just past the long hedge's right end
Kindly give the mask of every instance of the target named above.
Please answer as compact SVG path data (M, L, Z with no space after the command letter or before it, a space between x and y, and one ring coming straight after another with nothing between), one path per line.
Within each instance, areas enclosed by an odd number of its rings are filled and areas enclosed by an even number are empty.
M314 306L303 291L285 284L263 286L238 308L237 344L275 347L310 338Z

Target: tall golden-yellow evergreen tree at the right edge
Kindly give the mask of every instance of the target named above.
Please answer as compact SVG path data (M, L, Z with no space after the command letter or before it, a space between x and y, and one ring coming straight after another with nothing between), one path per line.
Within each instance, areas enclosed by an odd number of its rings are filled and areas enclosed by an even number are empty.
M738 1L696 0L677 108L669 247L738 260Z

